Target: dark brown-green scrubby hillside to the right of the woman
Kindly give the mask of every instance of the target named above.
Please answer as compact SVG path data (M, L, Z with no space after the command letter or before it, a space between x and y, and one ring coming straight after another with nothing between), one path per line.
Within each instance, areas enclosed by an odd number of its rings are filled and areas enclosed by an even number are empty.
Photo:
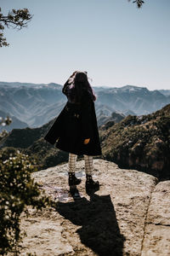
M103 156L120 167L170 178L170 104L141 116L129 115L100 128Z

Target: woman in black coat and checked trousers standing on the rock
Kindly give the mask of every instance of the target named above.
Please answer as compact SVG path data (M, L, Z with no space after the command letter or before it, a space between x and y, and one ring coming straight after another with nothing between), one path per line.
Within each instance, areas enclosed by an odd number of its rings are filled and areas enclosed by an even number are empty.
M99 182L94 182L93 156L100 155L99 131L94 108L96 96L88 83L86 72L74 72L66 81L62 92L68 101L59 113L44 137L48 143L56 143L56 148L69 153L69 185L81 183L75 176L77 155L84 155L86 188L96 189Z

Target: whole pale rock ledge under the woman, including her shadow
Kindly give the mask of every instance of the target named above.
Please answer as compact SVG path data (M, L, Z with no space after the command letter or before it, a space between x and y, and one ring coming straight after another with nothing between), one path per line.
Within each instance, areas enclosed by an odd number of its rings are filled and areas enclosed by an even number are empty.
M32 174L56 206L22 218L27 236L20 255L170 255L170 181L94 159L100 189L88 195L81 160L81 198L74 200L67 172L65 164Z

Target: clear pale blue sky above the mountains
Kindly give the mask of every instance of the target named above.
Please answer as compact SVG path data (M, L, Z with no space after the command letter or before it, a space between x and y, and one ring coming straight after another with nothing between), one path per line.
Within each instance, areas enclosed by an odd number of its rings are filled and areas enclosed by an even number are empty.
M88 71L93 86L170 90L170 0L0 0L28 8L28 28L6 29L0 81L58 83Z

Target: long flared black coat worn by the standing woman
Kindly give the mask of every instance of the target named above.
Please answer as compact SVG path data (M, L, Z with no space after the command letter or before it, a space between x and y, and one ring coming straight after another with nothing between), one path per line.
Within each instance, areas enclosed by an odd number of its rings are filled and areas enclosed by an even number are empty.
M88 144L83 143L86 138L90 138ZM102 154L94 101L88 91L84 91L80 104L66 102L44 139L68 153Z

